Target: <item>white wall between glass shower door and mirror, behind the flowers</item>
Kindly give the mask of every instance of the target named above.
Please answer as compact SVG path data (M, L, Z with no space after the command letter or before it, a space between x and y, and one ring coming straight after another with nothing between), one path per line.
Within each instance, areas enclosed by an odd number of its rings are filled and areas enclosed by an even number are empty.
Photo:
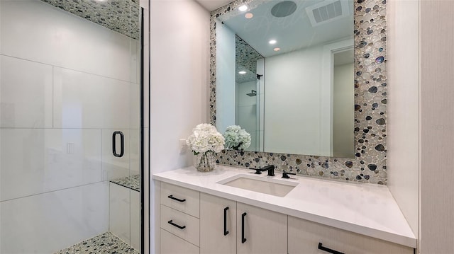
M179 139L209 122L209 13L193 0L152 0L150 173L192 164ZM151 251L159 252L159 189L151 183ZM154 219L154 220L153 220Z

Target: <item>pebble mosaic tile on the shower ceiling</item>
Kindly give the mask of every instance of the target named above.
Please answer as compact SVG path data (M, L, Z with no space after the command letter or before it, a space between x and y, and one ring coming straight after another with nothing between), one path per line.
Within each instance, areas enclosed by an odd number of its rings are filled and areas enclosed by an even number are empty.
M138 0L41 0L135 40L140 38Z

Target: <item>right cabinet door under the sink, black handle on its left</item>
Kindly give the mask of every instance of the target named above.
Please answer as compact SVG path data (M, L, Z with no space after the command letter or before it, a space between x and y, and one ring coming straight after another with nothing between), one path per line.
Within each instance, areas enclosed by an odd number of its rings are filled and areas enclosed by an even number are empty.
M237 203L237 253L287 253L287 215Z

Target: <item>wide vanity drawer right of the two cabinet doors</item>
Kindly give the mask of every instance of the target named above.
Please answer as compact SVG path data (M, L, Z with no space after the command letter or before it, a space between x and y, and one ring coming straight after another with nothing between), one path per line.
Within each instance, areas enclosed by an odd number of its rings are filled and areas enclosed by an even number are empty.
M322 243L322 247L345 254L413 254L413 248L401 246L397 243L382 241L295 217L289 216L288 221L289 254L329 253L319 250L319 243Z

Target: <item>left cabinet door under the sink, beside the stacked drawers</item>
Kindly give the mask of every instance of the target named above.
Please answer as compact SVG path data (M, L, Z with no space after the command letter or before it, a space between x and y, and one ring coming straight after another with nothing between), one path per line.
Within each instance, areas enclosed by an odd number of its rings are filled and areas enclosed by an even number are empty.
M200 193L200 253L236 253L236 202Z

